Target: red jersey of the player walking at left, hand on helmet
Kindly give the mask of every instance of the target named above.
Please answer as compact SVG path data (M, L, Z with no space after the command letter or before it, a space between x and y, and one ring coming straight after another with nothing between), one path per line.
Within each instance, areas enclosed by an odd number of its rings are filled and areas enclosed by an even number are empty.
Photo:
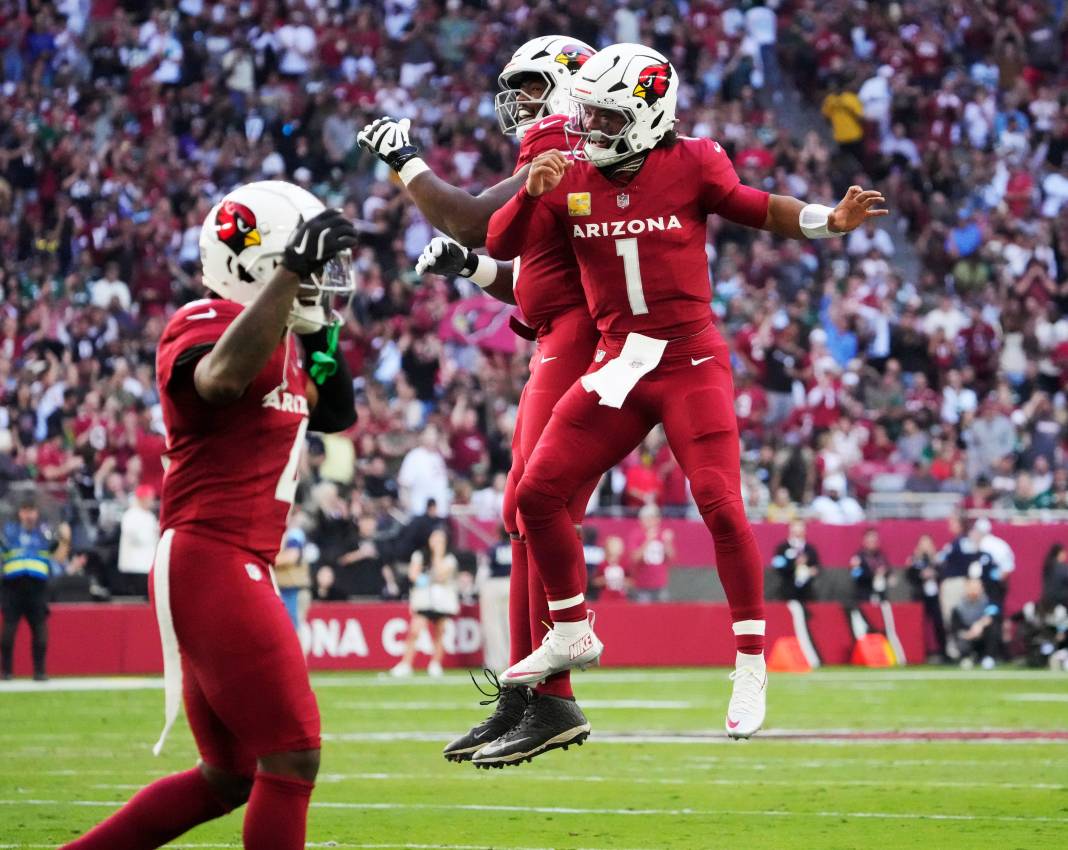
M232 544L272 562L296 493L308 428L307 378L293 335L286 334L233 404L209 405L201 398L192 368L174 377L182 352L216 343L242 309L221 299L193 301L163 329L156 351L167 426L159 524Z

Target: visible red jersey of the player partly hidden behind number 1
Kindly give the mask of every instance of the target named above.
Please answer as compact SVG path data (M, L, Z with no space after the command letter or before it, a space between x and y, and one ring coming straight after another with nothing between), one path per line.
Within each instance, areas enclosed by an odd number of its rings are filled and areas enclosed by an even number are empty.
M567 115L550 115L527 130L519 145L516 171L540 153L566 151L566 123ZM517 262L516 303L532 327L537 328L568 310L585 306L579 264L563 233L552 233L537 245L530 246Z

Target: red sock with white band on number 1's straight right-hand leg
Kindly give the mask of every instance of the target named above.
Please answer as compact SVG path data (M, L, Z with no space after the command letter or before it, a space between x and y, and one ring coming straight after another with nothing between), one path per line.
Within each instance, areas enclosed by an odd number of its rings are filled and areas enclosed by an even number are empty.
M740 502L705 515L716 541L716 569L736 624L735 647L745 655L764 652L764 562ZM756 625L759 624L759 625ZM756 633L759 632L759 633Z

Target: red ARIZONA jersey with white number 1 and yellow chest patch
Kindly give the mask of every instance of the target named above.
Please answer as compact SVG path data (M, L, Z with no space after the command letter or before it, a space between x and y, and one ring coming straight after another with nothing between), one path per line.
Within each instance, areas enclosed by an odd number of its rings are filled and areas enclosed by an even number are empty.
M626 186L576 161L552 192L532 199L522 190L498 210L486 247L506 259L566 233L601 333L687 336L712 320L706 220L739 186L726 153L709 139L655 148ZM763 207L731 199L733 209L745 209L732 220L764 223L767 195L755 195Z

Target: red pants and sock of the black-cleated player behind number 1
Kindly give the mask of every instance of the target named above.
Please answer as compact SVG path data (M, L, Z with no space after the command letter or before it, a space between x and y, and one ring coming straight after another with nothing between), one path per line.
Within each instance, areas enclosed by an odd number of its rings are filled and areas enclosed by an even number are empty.
M552 415L552 409L575 381L585 374L593 360L600 335L585 308L571 310L554 318L538 335L537 350L531 359L531 377L523 388L512 440L512 471L504 491L504 528L513 536L512 578L508 592L511 628L511 662L529 656L541 644L546 623L550 623L545 586L536 570L528 569L527 546L521 539L516 508L516 487L523 476L527 460L537 445L541 431ZM575 525L582 522L586 505L599 475L580 484L567 504L571 536ZM583 570L583 576L585 571ZM552 691L550 687L546 689ZM564 689L563 695L569 694Z

